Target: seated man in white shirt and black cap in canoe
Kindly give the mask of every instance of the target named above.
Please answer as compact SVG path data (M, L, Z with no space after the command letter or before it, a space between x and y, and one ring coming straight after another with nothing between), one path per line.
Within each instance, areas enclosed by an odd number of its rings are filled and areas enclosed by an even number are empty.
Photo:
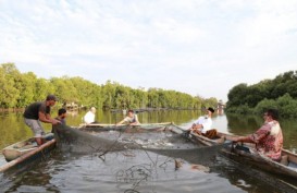
M191 128L189 129L189 131L193 131L197 134L207 136L209 138L214 138L216 137L216 130L215 129L211 129L212 125L212 113L214 112L214 109L209 107L207 109L207 112L205 116L199 117L194 124L191 125Z

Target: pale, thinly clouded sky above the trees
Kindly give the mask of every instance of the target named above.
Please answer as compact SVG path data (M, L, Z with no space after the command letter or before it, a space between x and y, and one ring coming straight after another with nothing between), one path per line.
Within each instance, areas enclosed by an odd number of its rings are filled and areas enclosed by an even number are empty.
M0 63L227 100L297 70L297 0L0 0Z

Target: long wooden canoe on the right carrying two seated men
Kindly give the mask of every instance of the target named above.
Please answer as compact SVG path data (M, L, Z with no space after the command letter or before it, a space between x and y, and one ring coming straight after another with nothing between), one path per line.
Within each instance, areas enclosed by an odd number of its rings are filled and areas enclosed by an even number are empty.
M224 143L224 141L221 138L225 138L225 142L230 142L232 141L233 137L235 137L235 135L220 132L218 133L216 140L210 140L196 133L190 133L190 135L193 135L191 136L193 138L199 141L200 143L207 146L219 145ZM277 162L265 157L264 155L251 153L252 150L249 152L249 149L252 149L253 147L255 145L249 143L240 144L230 143L230 145L224 146L224 148L221 149L221 153L226 157L236 160L240 164L249 164L269 172L293 177L297 179L297 154L294 154L287 149L282 149L282 160Z

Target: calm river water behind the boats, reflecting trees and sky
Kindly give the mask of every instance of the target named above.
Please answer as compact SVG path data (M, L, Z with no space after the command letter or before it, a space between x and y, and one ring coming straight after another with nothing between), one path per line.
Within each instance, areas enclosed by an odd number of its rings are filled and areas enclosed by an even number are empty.
M67 124L79 125L86 111L73 111L69 113ZM52 112L54 117L54 112ZM201 116L201 111L195 110L170 110L151 111L138 113L141 123L174 122L184 129L188 129L191 123ZM110 111L98 110L96 118L101 123L116 123L124 118L123 113L112 113ZM263 120L259 116L245 114L213 114L213 128L220 132L246 135L255 132ZM280 120L284 134L284 146L290 150L297 148L297 120ZM44 124L47 131L51 130L50 124ZM32 131L23 121L22 113L0 113L0 148L12 143L33 136Z

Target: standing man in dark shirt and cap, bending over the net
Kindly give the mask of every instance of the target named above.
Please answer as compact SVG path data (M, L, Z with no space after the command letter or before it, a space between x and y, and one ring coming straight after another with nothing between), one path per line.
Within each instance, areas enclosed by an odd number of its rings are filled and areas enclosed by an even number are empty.
M54 95L48 95L45 101L33 102L25 109L24 121L32 129L38 145L42 144L42 135L46 134L40 121L51 124L61 123L50 117L50 108L55 105L57 100Z

